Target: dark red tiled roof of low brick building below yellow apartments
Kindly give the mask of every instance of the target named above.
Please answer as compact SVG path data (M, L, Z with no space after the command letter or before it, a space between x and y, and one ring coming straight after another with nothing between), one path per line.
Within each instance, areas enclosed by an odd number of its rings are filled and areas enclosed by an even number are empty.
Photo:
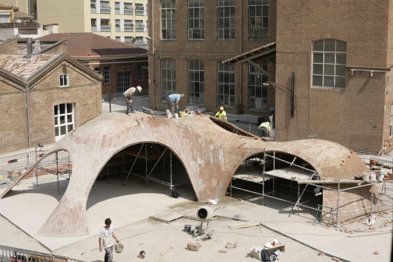
M94 57L105 55L146 54L147 50L119 42L94 33L50 34L34 40L60 41L67 39L67 53L72 57Z

